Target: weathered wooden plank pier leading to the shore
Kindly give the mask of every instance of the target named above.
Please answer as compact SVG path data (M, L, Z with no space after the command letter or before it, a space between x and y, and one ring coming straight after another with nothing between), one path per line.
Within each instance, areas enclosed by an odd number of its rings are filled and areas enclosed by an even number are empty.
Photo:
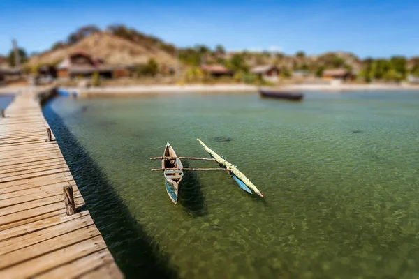
M123 278L36 96L0 114L0 278Z

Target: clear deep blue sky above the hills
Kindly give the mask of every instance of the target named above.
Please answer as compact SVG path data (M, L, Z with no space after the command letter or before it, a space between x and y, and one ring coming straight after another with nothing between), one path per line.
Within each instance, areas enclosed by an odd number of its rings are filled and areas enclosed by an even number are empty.
M0 54L11 38L39 52L82 25L122 23L182 47L419 56L419 0L0 0L0 14Z

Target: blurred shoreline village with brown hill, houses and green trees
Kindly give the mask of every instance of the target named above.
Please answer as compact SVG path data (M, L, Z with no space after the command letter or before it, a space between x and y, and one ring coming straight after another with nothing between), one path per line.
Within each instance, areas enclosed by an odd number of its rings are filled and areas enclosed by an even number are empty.
M15 45L0 56L0 83L162 80L173 83L409 82L419 84L419 58L395 56L364 59L346 52L307 56L304 52L226 52L221 45L177 49L135 29L113 25L106 30L81 27L66 42L41 54L27 54Z

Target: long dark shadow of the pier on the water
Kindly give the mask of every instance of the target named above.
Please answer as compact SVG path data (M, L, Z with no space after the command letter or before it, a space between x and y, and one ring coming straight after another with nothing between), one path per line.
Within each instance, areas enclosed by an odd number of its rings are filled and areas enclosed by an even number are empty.
M119 269L126 278L178 278L169 257L131 215L89 153L78 143L64 121L43 107L68 167L83 195L96 227L101 232Z

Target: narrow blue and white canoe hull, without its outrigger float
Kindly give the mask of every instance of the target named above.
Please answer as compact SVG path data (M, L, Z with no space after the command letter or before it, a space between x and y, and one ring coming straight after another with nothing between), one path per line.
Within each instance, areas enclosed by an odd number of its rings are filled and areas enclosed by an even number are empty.
M167 143L161 159L161 168L164 173L164 185L172 202L177 204L179 197L179 183L183 178L183 165L172 146Z

